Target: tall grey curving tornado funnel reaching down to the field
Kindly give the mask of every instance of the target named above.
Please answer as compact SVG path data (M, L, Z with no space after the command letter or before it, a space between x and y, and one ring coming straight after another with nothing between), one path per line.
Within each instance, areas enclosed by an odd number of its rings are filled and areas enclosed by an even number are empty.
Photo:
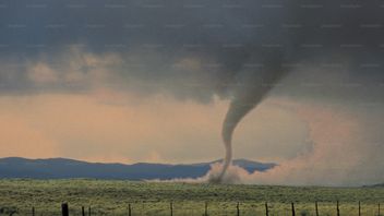
M267 93L276 86L277 82L287 73L272 67L271 71L265 71L263 74L253 74L251 77L245 77L247 82L242 83L230 101L227 115L223 122L221 136L225 146L225 157L223 169L215 182L223 182L227 169L232 160L232 135L235 129L242 118L253 110L267 95Z

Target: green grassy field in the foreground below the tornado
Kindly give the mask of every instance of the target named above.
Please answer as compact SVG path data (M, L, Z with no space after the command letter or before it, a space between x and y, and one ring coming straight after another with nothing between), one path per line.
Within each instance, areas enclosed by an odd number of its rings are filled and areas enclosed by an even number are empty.
M92 215L290 215L295 202L297 215L314 215L319 201L320 215L336 215L336 201L341 215L377 215L384 202L384 188L322 188L218 185L189 183L157 183L106 180L0 180L0 215L16 209L14 215L60 215L61 203L68 202L71 215L81 215L81 206L92 207ZM384 206L384 204L383 204ZM384 213L384 209L383 209Z

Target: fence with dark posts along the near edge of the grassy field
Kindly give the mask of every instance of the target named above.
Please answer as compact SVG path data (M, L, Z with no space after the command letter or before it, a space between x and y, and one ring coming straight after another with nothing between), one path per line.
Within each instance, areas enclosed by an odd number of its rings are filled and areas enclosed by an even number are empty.
M113 206L70 205L69 203L57 204L49 208L26 207L0 207L0 215L58 215L58 216L96 216L96 215L124 215L124 216L384 216L381 205L351 203L252 203L252 202L134 202L125 207Z

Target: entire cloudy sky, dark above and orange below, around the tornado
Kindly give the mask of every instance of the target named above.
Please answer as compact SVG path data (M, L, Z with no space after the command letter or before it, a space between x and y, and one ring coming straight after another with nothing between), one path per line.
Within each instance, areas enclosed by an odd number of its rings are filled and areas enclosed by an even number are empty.
M0 157L214 160L228 106L259 94L236 158L382 181L383 5L1 0Z

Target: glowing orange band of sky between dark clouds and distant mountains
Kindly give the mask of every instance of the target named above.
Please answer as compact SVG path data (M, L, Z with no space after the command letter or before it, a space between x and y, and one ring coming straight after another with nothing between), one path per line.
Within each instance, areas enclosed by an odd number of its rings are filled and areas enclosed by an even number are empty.
M276 101L276 99L275 99ZM241 122L236 157L281 160L305 148L305 124L267 100ZM228 101L180 101L97 89L0 97L0 157L190 163L220 158ZM278 131L279 135L275 133Z

